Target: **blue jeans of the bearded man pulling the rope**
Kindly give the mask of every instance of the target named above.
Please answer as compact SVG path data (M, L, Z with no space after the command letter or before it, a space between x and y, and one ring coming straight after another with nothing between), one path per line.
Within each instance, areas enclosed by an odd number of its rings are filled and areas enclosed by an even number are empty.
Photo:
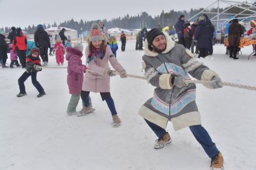
M157 135L158 138L162 138L164 134L166 134L166 130L161 128L160 126L157 126L156 124L145 120L148 126L154 131L155 135ZM208 157L214 157L217 154L219 154L219 150L217 149L216 145L213 141L211 141L211 137L208 134L208 132L202 127L201 125L195 125L190 126L189 129L195 136L196 140L199 142L199 144L202 145L202 148L204 148L205 153L207 153Z

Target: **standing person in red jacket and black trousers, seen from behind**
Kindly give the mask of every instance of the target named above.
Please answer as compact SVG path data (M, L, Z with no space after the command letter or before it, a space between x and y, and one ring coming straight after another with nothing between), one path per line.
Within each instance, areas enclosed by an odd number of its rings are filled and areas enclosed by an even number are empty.
M26 51L27 51L27 38L23 34L20 28L16 29L16 37L13 40L13 49L17 52L19 56L20 64L22 68L26 67Z

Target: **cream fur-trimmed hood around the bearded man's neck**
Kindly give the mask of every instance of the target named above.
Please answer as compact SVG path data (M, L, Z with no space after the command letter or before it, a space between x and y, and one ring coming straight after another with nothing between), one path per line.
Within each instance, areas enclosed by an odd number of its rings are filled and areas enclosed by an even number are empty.
M172 41L172 39L169 37L169 35L167 35L165 32L164 32L164 37L166 39L166 49L161 53L167 53L170 50L172 50L173 47L175 46L175 42ZM146 56L157 56L158 55L157 52L153 52L153 51L149 50L147 40L145 40L145 55Z

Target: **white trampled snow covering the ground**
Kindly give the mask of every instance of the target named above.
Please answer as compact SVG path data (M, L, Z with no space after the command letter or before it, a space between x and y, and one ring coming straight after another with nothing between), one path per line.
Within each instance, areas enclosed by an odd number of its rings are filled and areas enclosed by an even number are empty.
M214 55L202 61L223 81L256 85L256 58L246 57L251 50L242 49L235 61L217 44ZM117 59L127 73L143 75L142 55L131 40L125 52L117 52ZM56 65L55 57L49 56L49 66ZM28 95L17 98L17 79L23 71L0 68L0 169L210 169L210 159L188 128L175 132L169 123L172 144L154 150L157 137L137 114L154 90L145 80L111 78L111 96L122 120L122 126L113 128L99 94L90 94L95 113L67 116L66 69L43 69L37 75L46 96L37 99L29 78ZM197 87L202 125L222 151L225 169L256 169L256 92ZM81 107L80 101L78 111Z

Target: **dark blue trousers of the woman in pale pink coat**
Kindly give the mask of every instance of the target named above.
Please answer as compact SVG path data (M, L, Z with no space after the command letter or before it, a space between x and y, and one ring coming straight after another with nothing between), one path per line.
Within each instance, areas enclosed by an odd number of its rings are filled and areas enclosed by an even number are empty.
M81 98L84 102L84 106L89 106L89 94L90 91L83 91L81 92ZM101 99L106 101L108 105L108 109L110 109L111 115L117 115L116 112L116 107L114 106L114 100L112 99L111 95L109 92L106 93L100 93L101 94Z

